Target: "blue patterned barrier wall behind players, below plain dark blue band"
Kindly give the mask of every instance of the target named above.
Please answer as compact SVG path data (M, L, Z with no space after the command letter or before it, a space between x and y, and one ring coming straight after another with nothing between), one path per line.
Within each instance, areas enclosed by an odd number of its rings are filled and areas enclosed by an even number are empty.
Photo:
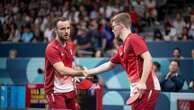
M75 58L78 65L92 68L107 61L108 58ZM168 58L154 58L161 64L161 73L168 72ZM37 84L43 83L44 58L17 58L15 60L0 58L0 84ZM185 80L194 80L194 60L180 60L180 74ZM118 65L113 70L100 74L105 87L110 89L127 89L129 83L123 68Z

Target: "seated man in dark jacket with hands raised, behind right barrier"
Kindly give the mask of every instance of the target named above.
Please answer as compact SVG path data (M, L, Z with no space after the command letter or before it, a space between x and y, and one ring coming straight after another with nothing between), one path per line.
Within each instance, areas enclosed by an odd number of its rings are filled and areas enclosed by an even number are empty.
M169 72L163 75L160 81L162 91L178 92L182 89L184 79L180 76L180 73L178 73L179 66L177 60L170 61Z

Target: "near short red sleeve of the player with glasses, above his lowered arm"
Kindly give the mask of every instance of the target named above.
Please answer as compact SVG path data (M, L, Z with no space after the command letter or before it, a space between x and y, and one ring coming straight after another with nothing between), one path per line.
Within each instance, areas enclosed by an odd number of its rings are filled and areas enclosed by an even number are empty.
M135 54L141 55L142 53L148 51L148 47L144 41L143 38L141 37L133 37L130 39L130 44L135 52Z

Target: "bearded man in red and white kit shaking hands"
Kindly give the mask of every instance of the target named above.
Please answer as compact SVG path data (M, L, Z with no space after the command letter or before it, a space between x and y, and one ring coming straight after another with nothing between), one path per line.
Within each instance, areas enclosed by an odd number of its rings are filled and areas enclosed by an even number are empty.
M72 69L72 49L70 47L70 21L56 18L55 39L45 51L44 88L50 109L77 110L73 76L85 75L83 70Z

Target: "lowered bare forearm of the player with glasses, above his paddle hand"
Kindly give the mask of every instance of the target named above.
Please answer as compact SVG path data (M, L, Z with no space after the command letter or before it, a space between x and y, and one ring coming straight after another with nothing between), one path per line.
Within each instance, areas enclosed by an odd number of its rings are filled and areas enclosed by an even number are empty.
M152 67L152 58L144 59L141 82L146 83Z

